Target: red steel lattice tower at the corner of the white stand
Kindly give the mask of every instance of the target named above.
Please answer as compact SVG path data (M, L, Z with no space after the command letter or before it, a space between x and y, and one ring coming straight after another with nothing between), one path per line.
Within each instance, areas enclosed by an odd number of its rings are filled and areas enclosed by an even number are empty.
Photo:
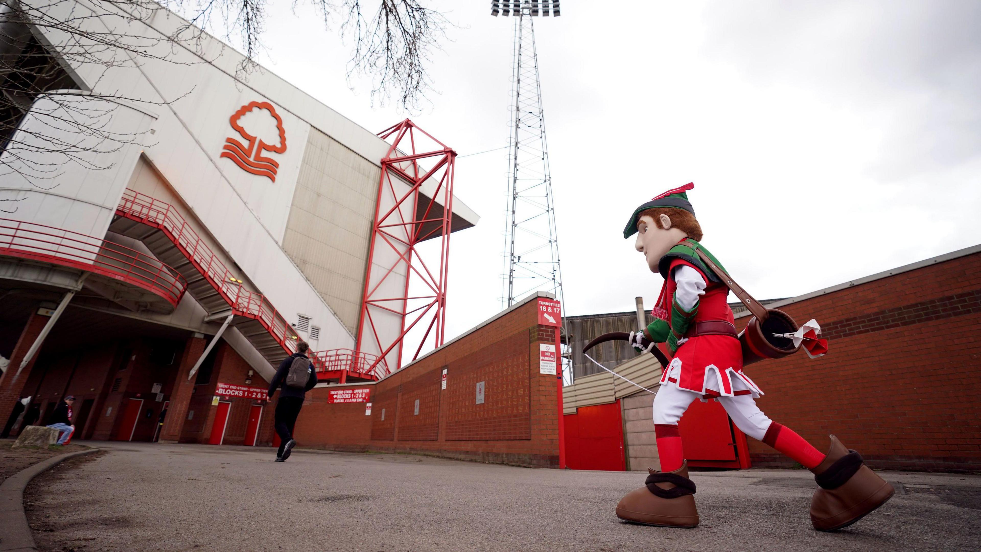
M379 133L379 136L383 139L393 137L393 140L382 159L382 177L379 181L357 338L358 352L369 347L380 352L378 359L369 366L369 371L387 375L400 367L403 340L417 325L426 329L412 359L419 357L431 335L435 347L440 347L443 343L456 152L408 119ZM421 141L426 138L435 142L435 147L417 150ZM423 159L431 160L433 166L429 169L420 167L419 161ZM427 182L435 185L435 190L429 197L422 193L423 185ZM408 185L408 190L397 191L396 184ZM384 211L383 200L386 204ZM391 202L390 206L388 201ZM435 214L439 211L441 214ZM408 217L406 212L409 213ZM439 266L436 272L430 270L417 248L418 244L431 238L440 241ZM387 266L375 267L376 251L387 253L378 255L379 258L388 257L394 252L394 260ZM431 264L436 267L435 263ZM403 269L405 273L403 293L393 295L382 291L387 278L398 273L397 269ZM379 271L382 271L380 278ZM410 279L421 282L426 291L420 296L410 296ZM385 313L396 314L401 318L401 328L393 339L380 336L375 323L375 318ZM424 321L425 318L429 318L428 324ZM389 366L387 356L393 351L396 365Z

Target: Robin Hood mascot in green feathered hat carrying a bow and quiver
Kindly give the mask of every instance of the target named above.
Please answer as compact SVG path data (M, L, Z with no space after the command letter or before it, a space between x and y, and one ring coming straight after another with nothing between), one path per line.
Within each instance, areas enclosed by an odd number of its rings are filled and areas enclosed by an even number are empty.
M699 242L701 228L687 192L688 184L662 193L634 210L624 238L637 234L636 248L647 267L664 278L643 331L626 334L635 349L653 353L667 366L654 398L654 431L661 471L650 469L645 486L620 500L616 515L628 522L694 527L698 524L695 483L688 477L678 421L693 401L714 399L744 433L758 439L814 473L811 500L814 528L833 530L853 524L893 496L893 487L862 464L857 452L831 435L827 454L815 449L790 427L771 420L756 406L763 392L743 373L743 366L796 352L808 356L827 351L820 327L811 320L798 326L786 313L766 309L729 277ZM753 313L747 329L737 333L729 291ZM597 338L598 340L599 338ZM596 340L594 340L596 341ZM654 346L666 343L670 358ZM656 352L655 352L656 351Z

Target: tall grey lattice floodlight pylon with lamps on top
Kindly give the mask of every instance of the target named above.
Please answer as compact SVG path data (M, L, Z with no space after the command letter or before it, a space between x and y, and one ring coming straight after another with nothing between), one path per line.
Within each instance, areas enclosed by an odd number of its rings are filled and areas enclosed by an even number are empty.
M557 1L491 2L491 15L514 20L511 137L504 232L502 306L528 294L551 292L561 302L555 207L552 202L542 86L535 47L535 18L558 16Z

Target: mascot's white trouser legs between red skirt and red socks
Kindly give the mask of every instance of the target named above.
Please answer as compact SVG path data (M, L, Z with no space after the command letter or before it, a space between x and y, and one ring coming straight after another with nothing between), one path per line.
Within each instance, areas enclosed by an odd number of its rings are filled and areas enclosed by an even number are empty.
M749 390L749 387L742 380L733 378L733 389L742 391ZM700 398L701 393L680 389L674 383L662 384L657 390L657 395L654 396L654 423L677 425L689 405ZM763 435L766 435L766 430L770 428L772 421L759 410L752 395L719 397L718 401L740 431L757 441L763 440Z

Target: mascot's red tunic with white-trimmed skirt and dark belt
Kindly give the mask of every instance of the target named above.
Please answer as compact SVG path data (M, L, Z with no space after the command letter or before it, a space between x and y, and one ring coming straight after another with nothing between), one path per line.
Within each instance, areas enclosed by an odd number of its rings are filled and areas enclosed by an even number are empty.
M695 264L680 258L671 262L668 271L670 277L664 281L657 304L657 307L667 311L668 322L673 324L671 302L678 287L674 280L674 270L682 265L696 269L698 275L708 284L705 294L698 299L698 310L691 327L694 329L697 322L704 320L725 320L733 324L733 310L726 302L729 289L722 283L708 279ZM753 397L763 394L743 373L743 350L738 339L726 335L703 335L689 338L678 348L671 363L661 374L661 384L676 383L681 389L712 397L746 394L734 390L733 378L746 383Z

